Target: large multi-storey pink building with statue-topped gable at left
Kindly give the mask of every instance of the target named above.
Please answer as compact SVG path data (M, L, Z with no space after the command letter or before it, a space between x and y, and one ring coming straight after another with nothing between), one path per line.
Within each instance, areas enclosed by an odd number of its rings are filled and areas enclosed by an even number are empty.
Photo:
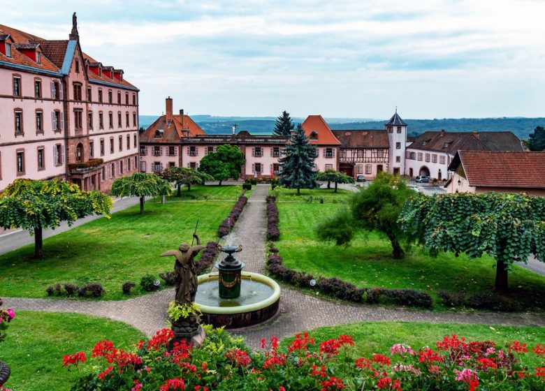
M138 89L82 52L75 15L68 40L0 25L0 126L0 191L62 177L107 192L138 170Z

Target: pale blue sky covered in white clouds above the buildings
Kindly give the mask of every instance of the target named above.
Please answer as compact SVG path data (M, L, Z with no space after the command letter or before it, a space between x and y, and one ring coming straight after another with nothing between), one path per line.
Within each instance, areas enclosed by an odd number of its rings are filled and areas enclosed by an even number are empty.
M123 68L140 114L543 117L545 1L19 1L0 23Z

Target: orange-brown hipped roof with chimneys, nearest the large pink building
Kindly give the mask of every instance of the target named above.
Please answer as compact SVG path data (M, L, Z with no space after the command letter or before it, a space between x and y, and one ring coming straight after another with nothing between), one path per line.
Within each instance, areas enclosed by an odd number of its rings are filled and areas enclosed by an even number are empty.
M173 121L170 122L170 126L167 125L166 115L161 115L161 117L156 119L153 124L140 134L140 142L172 144L173 142L179 142L184 137L195 137L206 134L201 129L201 126L198 126L188 115L184 115L183 126L180 115L173 115ZM189 135L187 135L188 129ZM162 130L162 134L157 133L158 130ZM159 134L161 134L161 137L156 137Z

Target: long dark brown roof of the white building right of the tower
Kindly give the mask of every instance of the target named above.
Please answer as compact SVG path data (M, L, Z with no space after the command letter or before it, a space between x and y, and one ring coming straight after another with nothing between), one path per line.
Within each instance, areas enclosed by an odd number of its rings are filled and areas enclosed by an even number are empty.
M521 151L521 140L511 132L445 132L428 131L417 136L409 149L446 152L455 155L465 151Z

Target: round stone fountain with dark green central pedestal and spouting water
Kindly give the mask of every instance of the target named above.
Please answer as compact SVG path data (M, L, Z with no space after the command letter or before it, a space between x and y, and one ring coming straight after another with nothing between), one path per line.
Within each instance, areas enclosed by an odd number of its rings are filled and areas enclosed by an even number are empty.
M195 302L204 323L226 328L247 327L262 323L278 312L280 287L262 274L242 272L245 264L233 253L242 251L230 233L219 249L227 256L216 264L217 273L198 277Z

